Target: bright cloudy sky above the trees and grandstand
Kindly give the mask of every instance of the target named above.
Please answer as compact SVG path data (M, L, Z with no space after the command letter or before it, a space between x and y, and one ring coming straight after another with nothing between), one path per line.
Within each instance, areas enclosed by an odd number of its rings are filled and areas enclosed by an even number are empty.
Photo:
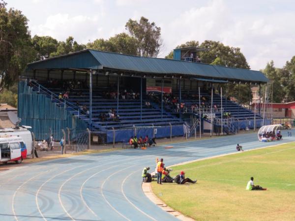
M274 61L283 67L295 55L294 0L5 0L29 19L31 35L78 43L126 32L131 18L161 27L159 57L186 41L220 41L239 47L251 69Z

